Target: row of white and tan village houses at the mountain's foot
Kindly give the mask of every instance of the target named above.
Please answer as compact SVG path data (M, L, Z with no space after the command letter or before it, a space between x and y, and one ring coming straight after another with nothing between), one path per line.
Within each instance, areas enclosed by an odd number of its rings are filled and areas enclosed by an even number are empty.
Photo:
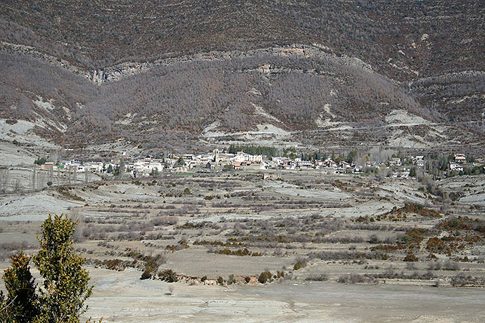
M350 156L350 154L349 154ZM62 162L44 162L40 168L46 171L67 171L69 173L97 173L118 178L143 178L158 176L163 172L220 172L240 170L315 170L325 174L379 173L380 176L394 178L415 177L418 173L437 173L444 176L470 175L484 173L484 167L473 158L467 159L463 153L446 157L446 164L439 164L433 157L421 155L396 156L371 162L368 154L361 158L330 156L322 159L290 156L271 157L263 154L249 154L243 151L230 153L214 150L205 154L167 154L167 157L130 158L126 152L121 157L106 162L79 162L75 159Z

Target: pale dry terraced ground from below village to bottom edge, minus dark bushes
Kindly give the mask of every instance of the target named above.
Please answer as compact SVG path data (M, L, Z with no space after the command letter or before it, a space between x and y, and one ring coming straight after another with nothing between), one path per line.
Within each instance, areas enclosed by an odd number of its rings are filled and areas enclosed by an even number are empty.
M0 197L0 244L5 244L5 250L0 250L5 258L0 258L0 273L8 266L6 255L14 252L8 244L18 243L20 248L22 243L25 252L35 253L36 233L48 212L71 213L83 219L78 227L82 239L76 247L88 260L94 285L86 318L103 316L105 322L484 322L484 289L448 287L460 272L484 277L483 239L453 250L451 256L436 252L434 260L427 258L429 236L424 236L414 251L419 261L413 268L403 261L406 249L382 251L389 258L356 256L381 253L373 247L396 245L413 228L434 230L437 237L477 235L472 230L456 235L455 230L448 232L437 225L451 216L483 219L485 212L477 206L483 204L485 177L460 176L437 185L460 197L440 201L411 179L327 176L318 171L164 174L141 181L68 185L60 191L49 187L10 193ZM184 193L186 188L189 194ZM394 218L385 218L394 207L408 203L425 204L441 217L408 212L406 218L392 214ZM358 220L380 215L381 220ZM372 237L380 242L370 242ZM242 244L195 244L231 241ZM182 246L185 243L187 247ZM182 247L172 251L167 246ZM226 246L231 251L247 247L261 256L216 252ZM284 270L287 276L264 285L142 281L143 261L129 251L160 256L158 272L172 269L178 275L209 279L221 275L227 280L229 275L254 277L266 270L273 275ZM472 262L460 261L465 256ZM302 258L308 265L294 270ZM101 261L108 260L119 260L115 270L104 269L108 265ZM430 265L448 260L457 263L458 269L434 268L430 279L410 276L425 275ZM93 266L96 261L98 268ZM32 270L38 278L37 270ZM387 270L398 277L368 280L379 284L337 283L345 275L371 277ZM304 280L320 275L328 281ZM439 288L431 287L435 282ZM0 279L4 290L2 284ZM174 286L173 295L169 286Z

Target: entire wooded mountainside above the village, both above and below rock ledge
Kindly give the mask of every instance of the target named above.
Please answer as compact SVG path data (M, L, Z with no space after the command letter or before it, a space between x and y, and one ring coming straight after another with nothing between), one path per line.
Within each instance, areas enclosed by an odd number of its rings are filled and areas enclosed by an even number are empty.
M484 131L482 1L0 4L0 117L58 143L180 143L406 110Z

